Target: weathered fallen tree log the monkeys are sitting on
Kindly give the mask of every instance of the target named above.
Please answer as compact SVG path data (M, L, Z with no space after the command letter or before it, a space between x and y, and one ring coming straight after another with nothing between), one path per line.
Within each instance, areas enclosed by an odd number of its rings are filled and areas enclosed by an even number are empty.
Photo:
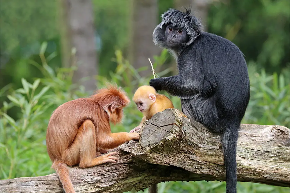
M139 142L117 148L117 163L71 167L76 192L142 190L164 181L224 181L220 135L176 109L155 114ZM289 187L289 128L242 124L237 146L238 181ZM64 192L58 176L0 181L1 192Z

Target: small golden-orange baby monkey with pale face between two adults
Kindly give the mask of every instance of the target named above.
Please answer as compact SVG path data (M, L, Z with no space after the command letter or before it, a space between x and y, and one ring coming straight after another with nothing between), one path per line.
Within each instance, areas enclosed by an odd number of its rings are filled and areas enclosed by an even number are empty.
M156 93L152 86L140 86L134 96L133 101L136 103L138 110L143 113L141 123L135 127L131 132L139 131L145 120L151 119L151 117L157 112L162 112L168 108L174 108L172 102L164 94Z

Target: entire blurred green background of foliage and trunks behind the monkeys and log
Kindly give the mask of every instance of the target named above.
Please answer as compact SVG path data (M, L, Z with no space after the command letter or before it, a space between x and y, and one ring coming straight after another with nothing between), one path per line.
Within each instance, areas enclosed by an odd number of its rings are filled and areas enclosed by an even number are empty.
M132 98L152 78L148 58L160 77L176 74L175 60L154 45L152 33L166 9L189 6L206 31L244 53L251 100L242 123L289 128L289 0L1 0L1 179L54 172L45 136L57 106L107 81ZM170 98L180 109L180 99ZM139 124L133 103L124 112L112 132ZM225 182L166 182L159 192L220 193ZM239 182L238 192L289 188Z

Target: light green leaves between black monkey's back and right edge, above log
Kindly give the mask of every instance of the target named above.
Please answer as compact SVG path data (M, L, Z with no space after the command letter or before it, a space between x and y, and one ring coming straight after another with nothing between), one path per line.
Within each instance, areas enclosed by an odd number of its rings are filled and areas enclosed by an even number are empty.
M243 123L283 125L289 128L289 79L283 74L257 73L249 64L251 97Z

